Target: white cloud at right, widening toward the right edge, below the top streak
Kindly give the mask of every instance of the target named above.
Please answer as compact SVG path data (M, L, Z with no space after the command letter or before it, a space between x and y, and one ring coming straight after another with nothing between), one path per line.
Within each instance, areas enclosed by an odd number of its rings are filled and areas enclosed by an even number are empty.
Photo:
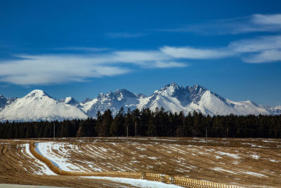
M160 50L174 58L200 60L235 56L245 63L268 63L281 61L281 35L242 39L217 49L164 46Z

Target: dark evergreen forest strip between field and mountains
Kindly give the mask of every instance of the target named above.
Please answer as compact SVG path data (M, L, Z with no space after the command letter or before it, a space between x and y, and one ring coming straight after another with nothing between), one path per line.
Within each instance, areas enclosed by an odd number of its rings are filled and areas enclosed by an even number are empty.
M54 126L55 125L55 126ZM202 115L123 108L86 120L0 123L0 138L53 137L252 137L281 138L281 115Z

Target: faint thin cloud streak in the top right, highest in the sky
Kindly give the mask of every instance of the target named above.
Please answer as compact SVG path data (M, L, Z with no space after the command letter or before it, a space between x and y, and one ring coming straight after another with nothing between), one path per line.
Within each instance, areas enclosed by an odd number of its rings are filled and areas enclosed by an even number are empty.
M202 35L236 35L247 32L281 31L281 14L254 14L226 20L211 20L207 23L190 24L183 27L162 29L166 32L196 32Z

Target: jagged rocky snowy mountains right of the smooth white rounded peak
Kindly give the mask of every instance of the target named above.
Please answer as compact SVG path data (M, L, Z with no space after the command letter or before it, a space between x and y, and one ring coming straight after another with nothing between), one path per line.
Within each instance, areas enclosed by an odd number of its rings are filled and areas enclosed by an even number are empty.
M154 111L155 108L163 107L166 111L173 113L183 111L188 114L197 111L204 115L228 115L230 113L236 115L276 115L281 113L277 107L262 106L252 101L230 101L200 85L179 87L174 82L167 84L148 97L133 94L126 89L118 89L116 92L100 94L96 99L88 99L80 105L83 106L81 109L91 117L95 117L98 111L103 113L107 109L112 111L112 115L116 115L121 107L125 111L128 108L131 110L150 108Z

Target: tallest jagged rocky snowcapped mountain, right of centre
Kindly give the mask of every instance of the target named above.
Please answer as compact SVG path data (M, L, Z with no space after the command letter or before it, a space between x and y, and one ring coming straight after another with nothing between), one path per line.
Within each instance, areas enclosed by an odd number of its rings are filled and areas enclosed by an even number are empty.
M251 101L235 102L224 99L218 94L209 91L205 87L195 85L193 87L178 87L174 82L166 85L149 96L148 103L141 108L161 108L173 113L183 111L185 114L192 111L201 112L204 115L236 115L247 114L277 114L270 107L255 104Z

